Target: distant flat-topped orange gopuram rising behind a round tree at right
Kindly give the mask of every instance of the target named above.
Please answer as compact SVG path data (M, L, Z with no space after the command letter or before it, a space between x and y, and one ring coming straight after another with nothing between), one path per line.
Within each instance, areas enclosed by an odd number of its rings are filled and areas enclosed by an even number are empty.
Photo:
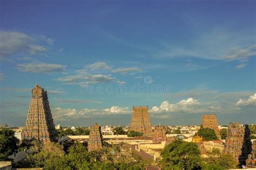
M208 128L213 129L214 132L216 133L217 137L219 139L221 139L218 122L217 122L217 117L215 114L203 114L202 125L203 125L203 128L208 127Z

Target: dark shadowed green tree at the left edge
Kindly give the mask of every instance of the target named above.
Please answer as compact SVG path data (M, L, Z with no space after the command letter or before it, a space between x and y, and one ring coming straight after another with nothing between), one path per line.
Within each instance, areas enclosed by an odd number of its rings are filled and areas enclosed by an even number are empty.
M18 149L18 138L15 137L14 131L9 128L0 130L0 154L9 156Z

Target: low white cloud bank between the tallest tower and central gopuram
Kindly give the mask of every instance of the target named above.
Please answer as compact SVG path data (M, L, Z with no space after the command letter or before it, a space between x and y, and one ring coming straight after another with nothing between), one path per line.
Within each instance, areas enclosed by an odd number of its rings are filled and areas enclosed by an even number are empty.
M75 108L53 108L52 115L54 119L66 120L66 119L80 119L91 118L95 116L113 115L113 114L130 114L128 107L112 106L105 109L89 109L84 108L77 111Z

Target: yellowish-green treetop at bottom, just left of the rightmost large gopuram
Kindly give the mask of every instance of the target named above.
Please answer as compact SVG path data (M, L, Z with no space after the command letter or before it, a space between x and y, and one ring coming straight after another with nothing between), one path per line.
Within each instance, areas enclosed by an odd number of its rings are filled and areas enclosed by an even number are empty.
M203 169L229 169L235 168L237 162L230 154L221 154L220 150L213 148L212 151L207 152L207 157L203 159L206 165ZM213 168L215 166L215 168Z

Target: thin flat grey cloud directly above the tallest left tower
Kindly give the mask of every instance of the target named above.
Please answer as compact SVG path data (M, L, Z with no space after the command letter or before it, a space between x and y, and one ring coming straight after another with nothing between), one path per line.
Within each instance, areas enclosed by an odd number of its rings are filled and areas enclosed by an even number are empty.
M65 72L65 65L48 64L48 63L24 63L17 64L17 69L21 72L33 73L51 73L51 72Z

